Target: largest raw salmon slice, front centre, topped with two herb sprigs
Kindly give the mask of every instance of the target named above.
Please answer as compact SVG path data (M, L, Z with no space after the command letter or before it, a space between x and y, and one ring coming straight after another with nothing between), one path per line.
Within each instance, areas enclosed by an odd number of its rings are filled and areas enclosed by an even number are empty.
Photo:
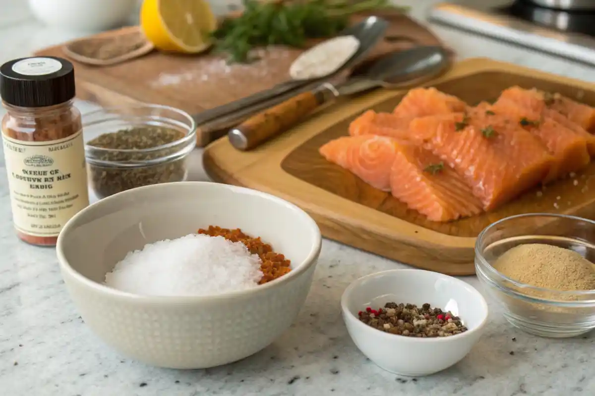
M477 110L428 116L414 119L409 130L464 176L485 210L537 185L552 166L541 141L502 116Z

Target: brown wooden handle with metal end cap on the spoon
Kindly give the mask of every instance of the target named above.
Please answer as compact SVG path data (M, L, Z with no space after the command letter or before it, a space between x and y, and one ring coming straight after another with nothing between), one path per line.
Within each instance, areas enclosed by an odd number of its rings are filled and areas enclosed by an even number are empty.
M296 125L326 101L324 90L306 91L250 117L229 131L229 141L241 151L252 150Z

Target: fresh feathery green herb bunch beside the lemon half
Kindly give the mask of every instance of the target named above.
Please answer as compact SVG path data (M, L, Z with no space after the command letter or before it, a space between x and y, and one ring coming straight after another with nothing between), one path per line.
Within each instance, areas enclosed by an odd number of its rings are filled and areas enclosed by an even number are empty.
M253 47L301 48L308 39L332 37L347 27L349 16L356 12L396 9L390 0L243 0L243 4L242 15L223 20L213 33L215 49L228 53L231 62L252 61Z

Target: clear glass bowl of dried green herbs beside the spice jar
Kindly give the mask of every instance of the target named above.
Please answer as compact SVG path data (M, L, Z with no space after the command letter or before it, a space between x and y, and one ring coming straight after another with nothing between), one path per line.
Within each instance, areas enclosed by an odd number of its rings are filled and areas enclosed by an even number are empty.
M181 132L181 137L140 150L87 144L102 134L142 126L175 129ZM159 104L135 103L87 113L83 115L83 135L89 183L99 199L136 187L185 181L188 154L196 147L196 123L192 117ZM150 129L147 137L151 138Z

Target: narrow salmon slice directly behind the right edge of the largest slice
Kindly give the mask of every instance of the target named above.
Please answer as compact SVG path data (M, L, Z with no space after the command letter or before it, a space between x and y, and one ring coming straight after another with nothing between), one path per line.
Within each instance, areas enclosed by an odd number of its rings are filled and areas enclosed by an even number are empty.
M552 154L553 163L544 182L584 169L591 161L587 139L550 117L534 118L535 112L525 110L524 107L506 99L498 100L494 106L478 107L478 110L494 117L509 118L546 145L547 150Z

